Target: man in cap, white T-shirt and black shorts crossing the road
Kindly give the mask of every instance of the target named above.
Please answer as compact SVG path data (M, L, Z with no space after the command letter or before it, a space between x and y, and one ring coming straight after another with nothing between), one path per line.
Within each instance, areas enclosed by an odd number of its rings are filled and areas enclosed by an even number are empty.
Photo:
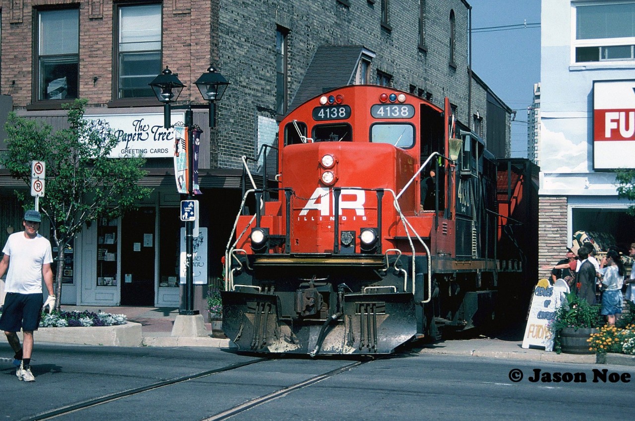
M6 274L4 307L0 317L0 330L15 352L13 357L19 361L15 372L18 380L33 382L31 372L31 354L33 351L33 331L37 330L42 310L42 281L46 285L49 297L44 307L51 309L55 304L53 295L53 272L51 263L51 243L37 233L42 217L36 210L24 214L24 231L11 234L3 248L4 256L0 260L0 277ZM23 344L17 332L22 329Z

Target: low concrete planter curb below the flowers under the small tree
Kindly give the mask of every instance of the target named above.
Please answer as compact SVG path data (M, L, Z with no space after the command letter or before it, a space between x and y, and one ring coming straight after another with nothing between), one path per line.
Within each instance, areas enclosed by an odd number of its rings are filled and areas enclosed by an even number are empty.
M22 333L18 335L22 340ZM113 347L138 347L143 340L141 324L132 322L118 326L39 328L33 336L36 344L37 342L58 342Z

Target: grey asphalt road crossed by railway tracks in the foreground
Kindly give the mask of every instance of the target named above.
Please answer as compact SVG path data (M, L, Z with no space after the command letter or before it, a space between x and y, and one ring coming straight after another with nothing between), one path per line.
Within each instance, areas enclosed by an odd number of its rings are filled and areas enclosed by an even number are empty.
M0 345L0 356L11 355L7 344ZM628 417L635 390L632 367L416 352L374 361L260 361L258 356L215 348L36 342L34 357L33 383L18 381L15 368L0 363L0 417L4 420L44 419L60 408L61 415L51 419L536 420L560 415L606 420ZM213 371L232 364L231 370ZM605 369L606 383L594 382L594 375L603 375ZM512 370L521 370L523 378L512 381L519 378L518 371ZM539 381L532 382L534 370L540 370L540 375L549 373L552 380L555 373L572 373L564 375L565 380L580 381L544 382L547 378L539 375ZM179 381L170 381L174 379ZM97 398L104 402L98 403ZM258 398L262 400L254 400ZM98 404L83 408L82 403ZM67 412L76 404L81 408Z

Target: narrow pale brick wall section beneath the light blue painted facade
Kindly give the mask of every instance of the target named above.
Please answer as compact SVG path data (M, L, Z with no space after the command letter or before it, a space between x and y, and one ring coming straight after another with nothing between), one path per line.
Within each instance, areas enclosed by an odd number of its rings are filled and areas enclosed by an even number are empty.
M565 258L566 208L564 196L538 197L538 267L554 265ZM539 269L538 277L549 279L551 271Z

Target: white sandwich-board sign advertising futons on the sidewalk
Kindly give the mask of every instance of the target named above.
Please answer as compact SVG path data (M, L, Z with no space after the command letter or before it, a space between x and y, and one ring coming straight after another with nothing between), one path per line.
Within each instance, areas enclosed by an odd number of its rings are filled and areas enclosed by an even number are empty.
M531 295L531 307L525 336L523 336L523 348L531 345L544 347L545 351L553 351L554 338L549 330L549 322L556 317L556 310L563 303L569 286L563 279L558 279L553 285L547 279L540 279L533 288Z

